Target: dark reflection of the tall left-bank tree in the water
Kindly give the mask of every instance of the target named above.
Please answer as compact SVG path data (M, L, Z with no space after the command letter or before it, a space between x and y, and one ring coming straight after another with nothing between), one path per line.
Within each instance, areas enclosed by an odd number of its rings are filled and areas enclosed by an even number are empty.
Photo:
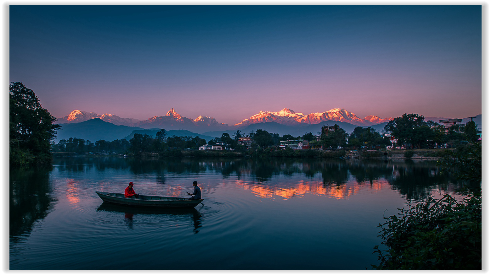
M50 192L48 169L10 170L10 236L14 242L31 230L34 221L46 217L55 201Z

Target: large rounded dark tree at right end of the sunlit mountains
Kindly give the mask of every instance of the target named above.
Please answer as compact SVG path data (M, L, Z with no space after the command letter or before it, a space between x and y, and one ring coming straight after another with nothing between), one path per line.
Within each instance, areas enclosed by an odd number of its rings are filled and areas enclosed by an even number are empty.
M419 149L428 140L434 139L435 132L424 121L424 116L418 114L404 114L389 121L384 130L392 133L399 143L417 145Z

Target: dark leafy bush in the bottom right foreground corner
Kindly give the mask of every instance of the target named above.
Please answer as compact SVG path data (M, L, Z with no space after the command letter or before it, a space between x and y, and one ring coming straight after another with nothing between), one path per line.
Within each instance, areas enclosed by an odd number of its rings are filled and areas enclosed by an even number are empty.
M481 196L468 194L461 202L450 195L439 201L399 209L379 225L382 251L375 246L377 269L481 269ZM387 253L384 253L387 252Z

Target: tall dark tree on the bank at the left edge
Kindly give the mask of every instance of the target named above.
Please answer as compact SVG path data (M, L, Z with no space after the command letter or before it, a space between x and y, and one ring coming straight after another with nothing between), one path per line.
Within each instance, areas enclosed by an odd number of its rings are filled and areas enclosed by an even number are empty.
M10 84L9 150L12 166L48 164L53 160L51 141L58 124L43 109L36 94L21 82Z

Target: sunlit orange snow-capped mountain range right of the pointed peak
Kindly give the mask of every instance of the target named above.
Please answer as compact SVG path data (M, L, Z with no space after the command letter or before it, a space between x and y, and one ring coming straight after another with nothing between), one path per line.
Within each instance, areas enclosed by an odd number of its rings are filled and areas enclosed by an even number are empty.
M311 113L309 115L295 113L293 110L285 108L279 112L261 111L257 115L252 115L250 118L244 119L242 122L235 124L235 126L246 126L254 123L273 121L285 125L298 125L300 123L317 124L328 120L348 122L359 126L369 126L387 122L391 119L393 118L380 118L376 115L368 115L365 118L360 118L355 114L340 108L331 109L324 113Z

